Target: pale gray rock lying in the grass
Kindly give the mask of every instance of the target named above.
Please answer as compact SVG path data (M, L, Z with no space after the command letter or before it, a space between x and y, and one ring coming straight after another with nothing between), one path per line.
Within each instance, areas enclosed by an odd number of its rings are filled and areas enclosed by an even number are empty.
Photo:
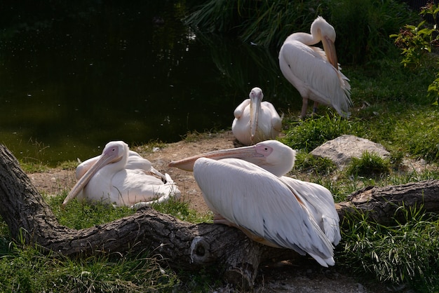
M355 135L342 135L316 147L311 154L316 157L329 158L339 170L348 165L353 157L360 158L364 151L375 153L381 158L389 158L390 153L381 144Z

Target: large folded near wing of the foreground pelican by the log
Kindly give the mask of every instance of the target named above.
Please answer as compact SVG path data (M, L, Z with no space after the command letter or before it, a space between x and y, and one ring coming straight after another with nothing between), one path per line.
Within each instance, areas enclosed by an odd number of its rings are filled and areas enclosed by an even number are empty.
M199 158L194 177L209 207L229 222L279 247L307 252L322 266L335 264L332 244L303 198L279 177L233 158Z

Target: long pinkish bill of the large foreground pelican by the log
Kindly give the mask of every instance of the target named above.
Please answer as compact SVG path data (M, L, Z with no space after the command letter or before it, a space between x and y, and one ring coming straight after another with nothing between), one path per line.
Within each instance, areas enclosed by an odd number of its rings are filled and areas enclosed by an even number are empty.
M237 147L233 149L222 149L219 151L210 151L208 153L184 158L180 161L172 161L168 164L169 167L176 167L186 171L194 170L194 163L198 158L212 158L213 160L220 160L222 158L255 158L262 157L258 154L255 146Z

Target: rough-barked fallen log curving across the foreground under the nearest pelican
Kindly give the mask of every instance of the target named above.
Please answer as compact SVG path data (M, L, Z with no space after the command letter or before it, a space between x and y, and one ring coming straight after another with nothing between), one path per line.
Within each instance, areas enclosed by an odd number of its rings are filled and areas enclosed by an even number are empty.
M349 202L337 204L337 210L340 217L358 211L377 222L391 221L403 204L424 205L426 210L437 212L438 183L366 188L353 193ZM18 161L1 144L0 201L0 215L14 238L22 237L26 243L68 257L110 252L137 255L148 251L172 268L222 268L224 278L238 285L252 285L261 264L302 258L292 250L259 245L238 229L190 224L151 208L89 229L69 229L58 223Z

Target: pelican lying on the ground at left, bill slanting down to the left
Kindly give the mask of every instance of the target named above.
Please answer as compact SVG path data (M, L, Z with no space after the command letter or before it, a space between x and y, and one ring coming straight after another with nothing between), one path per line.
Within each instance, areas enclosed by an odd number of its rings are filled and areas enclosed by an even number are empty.
M80 201L142 207L181 196L168 174L162 175L121 141L109 142L102 155L81 163L76 168L76 179L62 205L77 197Z

